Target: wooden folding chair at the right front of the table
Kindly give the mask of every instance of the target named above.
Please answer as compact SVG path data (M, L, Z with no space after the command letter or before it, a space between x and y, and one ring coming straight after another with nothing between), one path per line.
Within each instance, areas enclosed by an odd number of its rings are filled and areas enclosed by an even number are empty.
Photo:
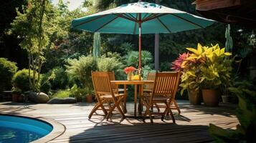
M179 72L156 73L156 79L153 84L153 91L150 94L143 94L141 97L143 104L146 106L143 120L148 115L153 123L152 114L161 114L161 120L166 114L171 114L171 119L175 123L174 114L171 112L171 102L173 101L176 90L179 86ZM150 108L153 104L165 104L164 112L153 112Z

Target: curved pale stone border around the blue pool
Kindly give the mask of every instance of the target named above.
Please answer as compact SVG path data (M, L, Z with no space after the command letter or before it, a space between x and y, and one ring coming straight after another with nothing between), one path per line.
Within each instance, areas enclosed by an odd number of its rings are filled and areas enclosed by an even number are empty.
M60 137L65 130L66 127L63 124L60 124L59 122L56 122L52 119L45 119L43 117L29 117L27 115L20 115L20 114L0 114L0 115L9 115L9 116L14 116L14 117L24 117L24 118L29 118L29 119L36 119L40 122L45 122L47 124L50 124L52 126L52 132L49 132L46 136L39 138L37 140L34 140L33 143L44 143L44 142L49 142L53 139L56 139L57 137Z

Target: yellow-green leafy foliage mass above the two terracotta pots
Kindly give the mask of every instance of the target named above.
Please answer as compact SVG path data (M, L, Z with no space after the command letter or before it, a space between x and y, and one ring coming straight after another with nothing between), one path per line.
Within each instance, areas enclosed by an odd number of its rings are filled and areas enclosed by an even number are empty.
M229 52L220 48L219 44L212 46L197 45L197 49L189 50L187 57L181 64L181 94L185 89L198 91L200 87L218 87L229 80L230 60Z

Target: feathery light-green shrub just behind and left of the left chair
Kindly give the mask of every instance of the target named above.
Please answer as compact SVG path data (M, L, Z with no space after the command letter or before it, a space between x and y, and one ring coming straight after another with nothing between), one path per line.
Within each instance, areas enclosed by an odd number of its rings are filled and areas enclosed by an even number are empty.
M80 81L80 87L93 88L91 71L97 70L93 56L80 56L79 59L68 59L67 74L75 81Z

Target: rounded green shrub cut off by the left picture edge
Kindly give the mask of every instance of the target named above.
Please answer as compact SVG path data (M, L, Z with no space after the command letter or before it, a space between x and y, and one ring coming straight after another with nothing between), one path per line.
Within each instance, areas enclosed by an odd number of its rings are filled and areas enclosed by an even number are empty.
M11 78L17 69L15 62L0 58L0 92L11 88Z

